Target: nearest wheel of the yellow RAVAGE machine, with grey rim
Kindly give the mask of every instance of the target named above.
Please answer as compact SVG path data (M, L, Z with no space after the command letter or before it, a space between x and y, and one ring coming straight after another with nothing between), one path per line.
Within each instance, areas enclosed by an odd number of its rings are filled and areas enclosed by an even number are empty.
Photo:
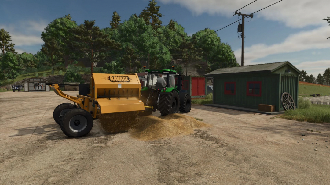
M77 138L87 135L93 128L93 122L93 117L88 111L72 109L62 116L60 126L66 136Z

